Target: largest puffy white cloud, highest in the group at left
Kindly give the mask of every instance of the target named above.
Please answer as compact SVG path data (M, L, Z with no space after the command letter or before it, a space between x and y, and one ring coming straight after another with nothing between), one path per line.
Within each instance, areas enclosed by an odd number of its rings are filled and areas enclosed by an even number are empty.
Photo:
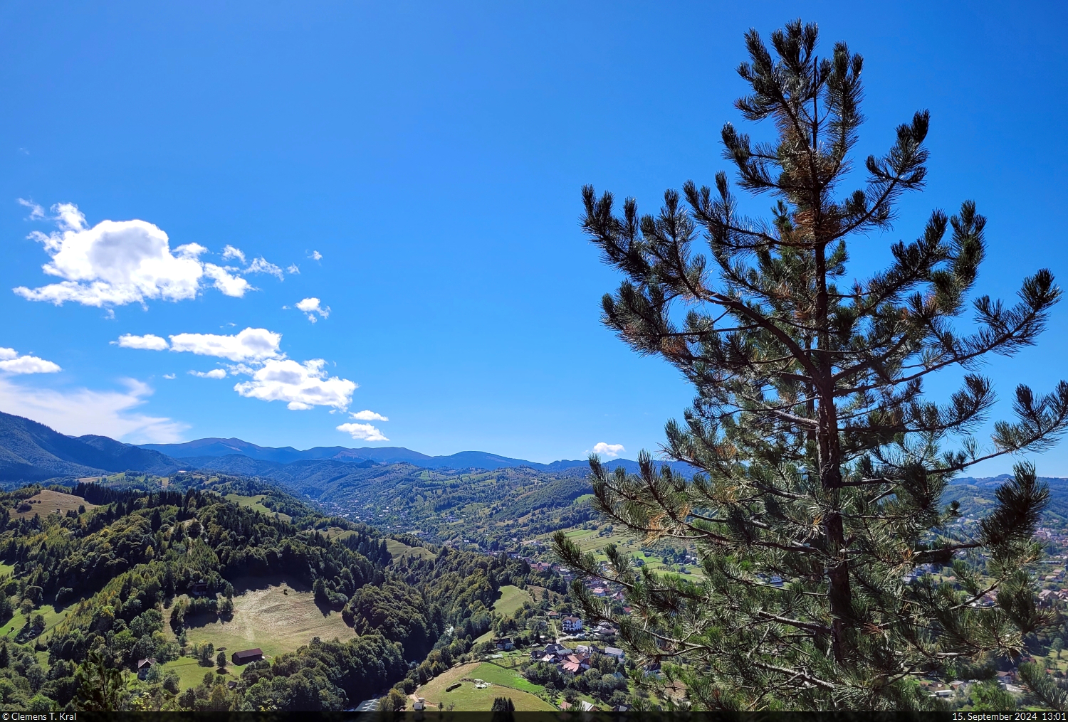
M15 293L30 301L62 305L122 306L148 299L183 301L202 290L205 276L226 295L241 296L251 287L225 269L201 262L207 251L198 243L174 248L158 226L145 221L101 221L88 227L74 204L52 206L59 230L30 234L51 257L42 269L59 283L40 288L19 286Z

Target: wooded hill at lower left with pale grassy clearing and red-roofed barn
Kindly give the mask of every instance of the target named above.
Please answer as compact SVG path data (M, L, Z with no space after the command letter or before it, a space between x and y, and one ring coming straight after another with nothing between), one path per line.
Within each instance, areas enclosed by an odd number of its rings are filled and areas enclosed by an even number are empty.
M0 709L345 709L431 648L466 653L530 571L415 549L409 578L396 542L263 482L115 481L0 493ZM227 669L226 640L248 644L229 630L268 624L292 645L264 637L268 659ZM116 681L144 659L143 683Z

